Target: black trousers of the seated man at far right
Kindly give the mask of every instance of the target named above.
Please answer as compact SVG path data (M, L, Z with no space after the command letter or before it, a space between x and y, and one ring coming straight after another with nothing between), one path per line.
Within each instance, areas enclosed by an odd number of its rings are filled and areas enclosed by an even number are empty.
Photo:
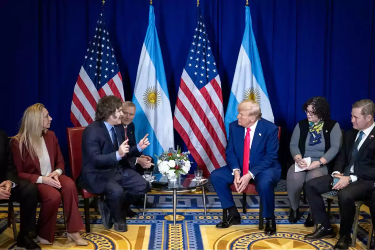
M311 179L305 184L306 196L314 223L322 224L325 228L330 228L331 225L321 194L332 190L332 181L333 178L330 175L323 175ZM374 181L362 180L357 180L339 190L337 196L340 208L340 235L350 235L356 214L354 202L371 198L374 190Z

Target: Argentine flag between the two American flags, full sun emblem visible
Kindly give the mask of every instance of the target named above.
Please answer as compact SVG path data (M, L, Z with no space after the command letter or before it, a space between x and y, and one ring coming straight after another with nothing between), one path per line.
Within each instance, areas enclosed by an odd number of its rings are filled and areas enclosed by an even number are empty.
M139 57L133 103L136 106L133 120L136 139L140 140L145 134L149 134L150 145L145 148L144 154L154 157L170 147L174 148L171 103L152 5Z

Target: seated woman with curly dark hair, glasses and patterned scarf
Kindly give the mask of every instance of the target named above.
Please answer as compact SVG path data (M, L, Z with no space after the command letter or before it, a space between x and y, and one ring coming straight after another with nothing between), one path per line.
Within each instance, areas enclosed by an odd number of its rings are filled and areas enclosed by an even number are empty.
M330 162L339 152L342 133L340 125L330 119L330 108L324 97L317 96L309 99L303 105L307 119L300 121L294 128L290 141L290 153L302 172L295 172L293 164L287 174L287 193L291 204L289 222L296 223L299 219L299 202L303 184L308 180L327 175ZM303 158L311 157L307 165ZM328 168L327 168L328 167ZM314 226L309 213L305 222L306 227Z

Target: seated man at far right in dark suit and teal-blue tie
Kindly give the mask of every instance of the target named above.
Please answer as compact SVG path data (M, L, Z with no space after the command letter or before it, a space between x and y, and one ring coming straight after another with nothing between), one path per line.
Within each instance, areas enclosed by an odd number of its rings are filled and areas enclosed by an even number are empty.
M371 198L375 181L375 105L372 100L359 100L352 106L353 129L344 136L332 175L323 175L309 180L305 192L309 201L312 219L318 225L306 240L335 238L321 194L337 193L340 208L340 238L334 249L348 249L351 229L356 214L356 201Z

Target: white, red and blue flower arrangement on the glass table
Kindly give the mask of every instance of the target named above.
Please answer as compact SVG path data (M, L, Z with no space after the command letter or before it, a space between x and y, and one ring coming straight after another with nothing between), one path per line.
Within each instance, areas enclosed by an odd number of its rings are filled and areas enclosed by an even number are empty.
M179 175L187 174L190 170L189 151L182 152L177 146L177 150L169 148L168 151L157 157L159 172L166 176L168 180L177 180Z

